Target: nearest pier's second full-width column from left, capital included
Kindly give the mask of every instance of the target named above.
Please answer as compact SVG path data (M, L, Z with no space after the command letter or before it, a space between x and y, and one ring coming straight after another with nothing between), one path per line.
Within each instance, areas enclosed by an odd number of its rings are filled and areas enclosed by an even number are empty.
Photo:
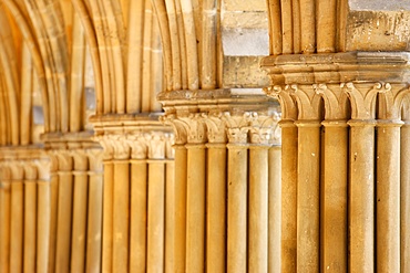
M348 97L339 84L312 86L324 99L321 181L322 272L347 272ZM336 167L337 166L337 167Z

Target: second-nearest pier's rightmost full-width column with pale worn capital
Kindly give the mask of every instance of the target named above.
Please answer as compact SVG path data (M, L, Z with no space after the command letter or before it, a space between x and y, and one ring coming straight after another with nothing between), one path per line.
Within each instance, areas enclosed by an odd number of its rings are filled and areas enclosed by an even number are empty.
M268 272L269 251L269 149L275 140L277 120L273 116L253 113L250 118L249 145L249 193L248 193L248 271ZM273 181L275 182L275 181ZM273 185L271 185L273 186ZM277 225L271 225L276 228ZM275 259L275 256L274 256ZM275 267L274 264L270 264ZM270 271L273 271L271 269Z

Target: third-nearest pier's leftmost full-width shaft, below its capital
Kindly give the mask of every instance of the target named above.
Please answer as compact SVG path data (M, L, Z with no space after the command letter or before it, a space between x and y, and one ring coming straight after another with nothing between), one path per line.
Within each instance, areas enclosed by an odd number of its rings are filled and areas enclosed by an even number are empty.
M113 272L129 271L130 162L114 161L113 179Z

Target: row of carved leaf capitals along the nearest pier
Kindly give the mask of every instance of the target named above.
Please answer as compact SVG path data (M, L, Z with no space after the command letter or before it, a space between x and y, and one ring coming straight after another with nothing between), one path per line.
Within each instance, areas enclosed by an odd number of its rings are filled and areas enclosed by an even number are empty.
M290 120L319 120L321 102L325 120L400 119L409 112L403 107L409 97L407 83L293 84L274 85L264 91L278 98L285 111L284 119Z

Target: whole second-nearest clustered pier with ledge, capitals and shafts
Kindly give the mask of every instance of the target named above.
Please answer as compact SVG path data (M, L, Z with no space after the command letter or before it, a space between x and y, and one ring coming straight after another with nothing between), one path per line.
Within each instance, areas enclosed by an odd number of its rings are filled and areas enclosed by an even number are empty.
M224 102L221 107L215 107L215 97ZM178 208L177 217L186 219L183 230L173 224L176 218L167 216L173 222L166 225L166 234L174 235L166 248L186 255L182 267L181 256L171 252L165 258L166 270L267 271L269 246L275 249L269 239L270 216L271 227L280 227L280 217L269 211L268 200L280 195L269 191L269 183L274 189L280 185L280 175L273 174L278 171L280 156L276 158L277 149L270 150L277 103L259 95L233 96L229 90L164 92L160 99L165 108L163 120L176 134L174 182L182 192L178 203L167 202L173 206L167 211ZM180 227L178 233L175 227ZM184 249L173 248L177 240L186 240Z

